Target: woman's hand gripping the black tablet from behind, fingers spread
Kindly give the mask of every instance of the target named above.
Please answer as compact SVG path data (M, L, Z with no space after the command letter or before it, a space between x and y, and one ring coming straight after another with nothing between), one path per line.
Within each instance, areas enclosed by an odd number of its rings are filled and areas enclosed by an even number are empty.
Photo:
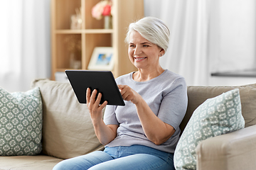
M94 123L95 121L97 122L98 120L102 120L102 109L105 108L105 106L107 106L107 101L100 105L102 94L99 93L96 98L97 90L93 90L92 95L90 95L90 91L90 88L87 88L86 101L87 107L90 112L90 117L92 119L92 123Z

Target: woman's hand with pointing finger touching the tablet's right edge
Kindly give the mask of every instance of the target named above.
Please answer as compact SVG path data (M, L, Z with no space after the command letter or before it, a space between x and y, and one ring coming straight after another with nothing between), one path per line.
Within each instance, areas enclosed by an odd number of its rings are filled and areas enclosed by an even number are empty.
M132 103L137 104L139 101L143 100L142 96L127 85L118 85L118 88L124 101L131 101Z

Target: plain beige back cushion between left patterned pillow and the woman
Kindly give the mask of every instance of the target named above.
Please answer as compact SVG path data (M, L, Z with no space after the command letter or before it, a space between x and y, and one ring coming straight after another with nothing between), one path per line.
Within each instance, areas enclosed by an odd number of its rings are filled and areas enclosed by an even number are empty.
M86 104L78 100L69 83L38 79L43 100L43 153L68 159L103 146L97 140Z

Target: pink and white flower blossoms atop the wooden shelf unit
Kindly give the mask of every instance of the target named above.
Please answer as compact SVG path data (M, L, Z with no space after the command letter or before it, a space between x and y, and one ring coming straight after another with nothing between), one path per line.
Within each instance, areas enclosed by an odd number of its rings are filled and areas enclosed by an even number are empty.
M102 16L112 16L112 1L103 0L97 3L92 8L92 17L97 20L102 19Z

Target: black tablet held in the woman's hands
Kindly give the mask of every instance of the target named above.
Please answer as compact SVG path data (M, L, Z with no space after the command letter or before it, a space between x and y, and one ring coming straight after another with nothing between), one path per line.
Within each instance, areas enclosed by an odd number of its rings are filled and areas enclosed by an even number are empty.
M124 100L110 71L66 70L68 80L79 103L86 103L86 89L102 94L100 104L124 106ZM98 94L97 93L97 94Z

